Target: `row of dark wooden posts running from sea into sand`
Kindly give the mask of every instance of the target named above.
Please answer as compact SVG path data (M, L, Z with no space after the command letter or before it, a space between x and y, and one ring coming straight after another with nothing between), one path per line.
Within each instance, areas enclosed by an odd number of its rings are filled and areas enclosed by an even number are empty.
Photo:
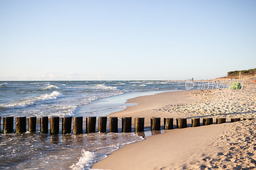
M244 118L253 119L253 118ZM26 132L26 117L15 117L16 120L16 133ZM160 117L151 117L150 118L150 127L152 131L160 130ZM200 118L191 118L192 127L200 126ZM240 118L231 118L231 122L240 121ZM1 121L1 117L0 117ZM210 125L213 122L212 117L204 117L203 125ZM216 118L216 124L225 123L226 118L219 117ZM176 119L177 128L186 128L187 127L187 118L177 118ZM71 133L71 124L72 117L64 116L62 117L62 134ZM60 117L52 116L50 117L50 134L58 134L60 126ZM107 129L107 117L99 117L99 132L106 132ZM3 123L4 133L13 132L13 116L5 116ZM173 118L164 118L164 129L173 129ZM36 131L36 117L28 117L28 131ZM48 133L48 116L40 117L40 131L43 133ZM86 133L94 133L96 131L96 116L86 117ZM122 132L131 132L132 131L132 117L125 116L122 117ZM144 131L144 117L135 117L135 132ZM0 129L1 132L1 129ZM109 132L117 133L118 132L118 118L109 117ZM81 134L83 133L83 117L73 117L73 133Z

